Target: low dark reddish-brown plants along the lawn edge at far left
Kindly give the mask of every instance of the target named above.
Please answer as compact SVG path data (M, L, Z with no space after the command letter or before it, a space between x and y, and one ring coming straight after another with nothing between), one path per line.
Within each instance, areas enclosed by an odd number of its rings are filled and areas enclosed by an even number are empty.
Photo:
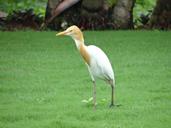
M33 9L18 10L10 13L4 21L0 21L1 30L32 28L38 30L43 18L36 15Z

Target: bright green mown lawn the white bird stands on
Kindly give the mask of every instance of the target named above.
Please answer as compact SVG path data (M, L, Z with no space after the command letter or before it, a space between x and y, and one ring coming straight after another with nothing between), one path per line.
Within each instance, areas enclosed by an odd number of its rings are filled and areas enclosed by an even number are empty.
M92 96L92 83L70 38L0 32L0 128L170 128L170 35L85 32L110 58L122 105L110 109L110 87L98 81L93 111L81 102Z

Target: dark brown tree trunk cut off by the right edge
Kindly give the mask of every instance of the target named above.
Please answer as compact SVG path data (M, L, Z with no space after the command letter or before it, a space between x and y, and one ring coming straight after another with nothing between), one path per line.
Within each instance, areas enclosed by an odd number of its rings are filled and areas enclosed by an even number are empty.
M151 28L171 29L171 0L158 0L151 16Z

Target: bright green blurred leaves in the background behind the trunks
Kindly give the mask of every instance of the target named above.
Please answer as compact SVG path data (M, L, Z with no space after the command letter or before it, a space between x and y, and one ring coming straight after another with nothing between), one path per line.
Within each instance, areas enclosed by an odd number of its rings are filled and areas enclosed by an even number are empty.
M45 16L47 0L0 0L0 10L7 13L12 13L14 10L25 10L32 8L35 14L41 17ZM116 0L107 0L109 5L115 4ZM155 7L156 0L136 0L134 7L134 22L135 27L142 25L140 16L148 15Z

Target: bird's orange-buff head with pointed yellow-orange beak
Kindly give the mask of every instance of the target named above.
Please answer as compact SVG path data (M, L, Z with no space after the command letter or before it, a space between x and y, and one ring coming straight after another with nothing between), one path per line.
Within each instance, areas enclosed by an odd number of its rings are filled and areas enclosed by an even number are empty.
M83 34L82 34L81 30L76 25L73 25L73 26L67 28L65 31L59 32L56 34L56 36L63 36L63 35L70 36L74 40L84 42Z

